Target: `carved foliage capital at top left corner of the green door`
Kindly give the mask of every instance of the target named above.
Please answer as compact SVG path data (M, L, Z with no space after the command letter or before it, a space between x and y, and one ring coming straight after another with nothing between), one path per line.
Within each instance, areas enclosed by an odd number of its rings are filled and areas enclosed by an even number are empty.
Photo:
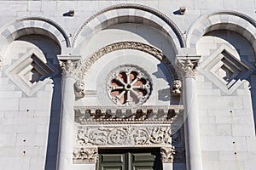
M97 160L97 148L75 148L73 150L73 163L96 163Z

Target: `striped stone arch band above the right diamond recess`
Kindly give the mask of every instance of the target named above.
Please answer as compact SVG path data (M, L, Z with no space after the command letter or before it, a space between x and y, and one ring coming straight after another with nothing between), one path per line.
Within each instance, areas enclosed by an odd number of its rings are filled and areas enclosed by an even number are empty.
M202 16L189 28L187 34L187 47L195 48L196 42L210 31L229 30L235 31L245 37L256 52L256 21L235 11L219 11Z

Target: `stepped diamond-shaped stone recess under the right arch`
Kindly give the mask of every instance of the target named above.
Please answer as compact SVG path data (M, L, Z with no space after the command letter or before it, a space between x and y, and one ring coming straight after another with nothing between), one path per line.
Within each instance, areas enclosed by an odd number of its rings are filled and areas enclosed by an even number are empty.
M222 45L201 65L201 72L221 88L232 94L249 77L255 67L246 59L240 59L235 49Z

